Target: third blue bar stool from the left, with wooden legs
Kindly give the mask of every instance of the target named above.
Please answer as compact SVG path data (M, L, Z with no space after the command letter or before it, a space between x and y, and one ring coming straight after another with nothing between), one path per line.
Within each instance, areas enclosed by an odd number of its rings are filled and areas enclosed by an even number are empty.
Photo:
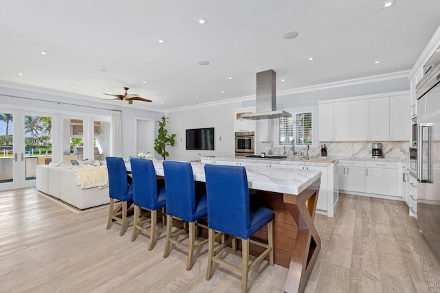
M188 251L186 270L192 268L192 259L195 248L208 243L208 239L195 244L197 220L205 218L208 214L206 209L206 194L196 195L194 174L191 164L188 162L164 161L164 175L166 188L166 241L164 257L170 253L170 244L175 244ZM184 220L189 223L188 245L177 240L179 235L186 233L184 229L171 233L173 218ZM207 226L204 226L208 228Z

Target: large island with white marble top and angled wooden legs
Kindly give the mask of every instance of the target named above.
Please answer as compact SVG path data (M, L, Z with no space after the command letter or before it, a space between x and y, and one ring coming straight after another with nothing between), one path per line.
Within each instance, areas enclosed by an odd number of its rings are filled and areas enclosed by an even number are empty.
M195 180L205 182L205 164L191 165ZM162 161L154 161L154 166L156 174L164 176ZM274 261L289 269L285 292L303 292L321 247L314 226L321 172L295 169L286 172L258 165L246 167L246 172L251 196L275 214ZM262 231L255 236L267 239L267 233ZM251 248L251 254L252 249L256 248Z

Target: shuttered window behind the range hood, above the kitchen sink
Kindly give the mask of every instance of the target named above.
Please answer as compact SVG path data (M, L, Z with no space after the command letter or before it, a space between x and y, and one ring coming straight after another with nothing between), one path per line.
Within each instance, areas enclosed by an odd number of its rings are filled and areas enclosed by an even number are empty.
M278 145L312 145L314 142L313 111L292 114L292 118L280 118L278 124Z

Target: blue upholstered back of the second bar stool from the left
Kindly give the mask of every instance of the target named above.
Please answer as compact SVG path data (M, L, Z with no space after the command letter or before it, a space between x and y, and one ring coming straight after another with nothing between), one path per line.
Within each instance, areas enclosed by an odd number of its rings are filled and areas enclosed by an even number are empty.
M156 209L157 179L153 161L131 159L131 176L133 177L133 200L137 206Z

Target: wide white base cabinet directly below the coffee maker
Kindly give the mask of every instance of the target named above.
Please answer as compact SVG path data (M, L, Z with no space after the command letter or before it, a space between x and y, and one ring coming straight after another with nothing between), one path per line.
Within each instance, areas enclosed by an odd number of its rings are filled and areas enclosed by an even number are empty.
M395 162L365 162L365 192L397 196Z

